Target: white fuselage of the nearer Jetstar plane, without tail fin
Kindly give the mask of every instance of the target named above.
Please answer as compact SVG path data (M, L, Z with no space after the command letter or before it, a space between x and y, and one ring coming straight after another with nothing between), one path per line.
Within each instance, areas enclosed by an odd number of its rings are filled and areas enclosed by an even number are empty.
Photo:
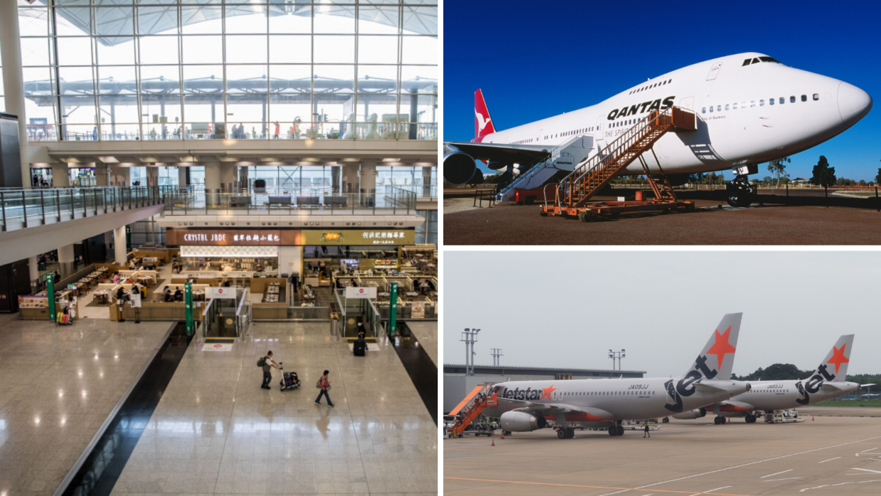
M587 409L598 409L611 414L610 418L603 415L566 414L566 420L574 424L601 422L603 420L624 420L667 417L676 411L668 406L675 403L667 394L667 382L675 384L679 379L608 379L608 380L574 380L574 381L511 381L493 386L498 391L498 406L487 407L483 414L496 418L506 411L513 411L521 405L506 402L506 396L533 403L552 405L572 405ZM690 396L682 396L680 411L697 409L708 404L729 399L748 389L748 384L741 381L702 381L714 387L724 389L714 394L706 394L695 390ZM693 388L693 386L692 386ZM535 391L538 391L537 393ZM549 420L554 420L551 415Z

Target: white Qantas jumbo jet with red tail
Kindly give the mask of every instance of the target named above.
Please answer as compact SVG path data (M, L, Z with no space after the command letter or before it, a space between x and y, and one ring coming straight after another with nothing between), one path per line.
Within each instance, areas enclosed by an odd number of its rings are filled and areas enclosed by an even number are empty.
M444 181L469 181L475 159L484 160L491 169L523 172L579 136L584 139L576 140L577 146L590 149L589 159L653 110L671 106L696 112L698 129L661 137L654 153L643 154L649 171L663 168L670 183L678 185L690 174L733 169L729 204L746 205L752 195L747 175L758 173L760 163L803 152L839 135L869 113L872 99L844 81L753 52L673 70L594 106L509 130L496 128L498 122L492 121L478 90L475 137L470 143L444 143ZM577 167L571 161L561 163L555 166L559 170ZM644 172L636 160L621 174Z

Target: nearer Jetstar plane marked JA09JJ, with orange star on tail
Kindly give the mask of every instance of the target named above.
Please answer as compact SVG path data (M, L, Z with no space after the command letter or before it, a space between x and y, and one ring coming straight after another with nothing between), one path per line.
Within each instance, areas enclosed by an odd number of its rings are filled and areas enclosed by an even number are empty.
M742 315L722 317L692 367L676 379L501 382L490 389L483 414L500 418L507 433L535 431L552 420L559 439L571 439L573 426L620 436L622 420L667 417L719 403L750 390L748 382L730 380Z

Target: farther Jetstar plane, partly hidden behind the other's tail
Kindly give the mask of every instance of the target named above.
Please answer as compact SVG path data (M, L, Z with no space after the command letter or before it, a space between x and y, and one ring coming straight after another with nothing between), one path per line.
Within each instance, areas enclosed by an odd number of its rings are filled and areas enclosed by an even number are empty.
M707 411L713 411L716 424L724 424L728 417L745 417L752 423L759 411L798 408L851 393L862 386L874 386L845 381L853 345L853 334L839 337L817 370L803 381L751 381L752 389L743 395L699 410L677 413L673 418L700 418L707 415Z

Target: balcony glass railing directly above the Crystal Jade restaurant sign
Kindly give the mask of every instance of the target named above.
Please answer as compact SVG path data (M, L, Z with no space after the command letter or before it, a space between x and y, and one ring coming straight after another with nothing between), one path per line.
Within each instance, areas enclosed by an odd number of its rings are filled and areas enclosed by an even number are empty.
M227 193L191 188L167 203L165 210L167 215L399 215L416 212L416 194L389 188L375 194L284 188Z

